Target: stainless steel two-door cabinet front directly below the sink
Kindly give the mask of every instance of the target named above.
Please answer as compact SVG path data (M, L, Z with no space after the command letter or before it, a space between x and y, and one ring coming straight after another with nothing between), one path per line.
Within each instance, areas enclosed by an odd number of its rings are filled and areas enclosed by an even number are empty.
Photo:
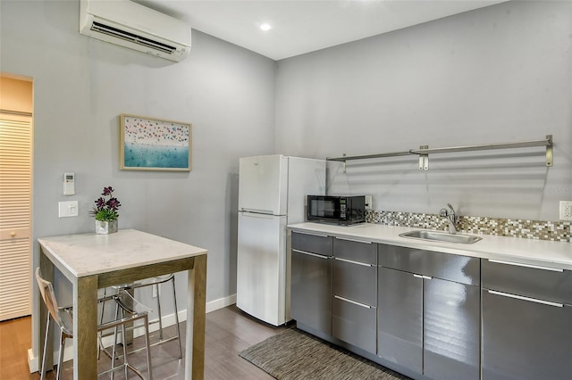
M479 284L479 260L383 244L378 251L377 355L428 378L479 380L480 287L467 284Z

